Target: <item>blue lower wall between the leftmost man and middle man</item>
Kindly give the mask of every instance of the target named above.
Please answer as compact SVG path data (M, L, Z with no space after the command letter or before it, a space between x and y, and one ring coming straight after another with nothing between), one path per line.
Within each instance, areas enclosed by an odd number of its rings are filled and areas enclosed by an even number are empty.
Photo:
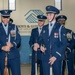
M21 47L20 47L20 59L21 63L30 63L31 58L29 54L31 54L32 50L29 46L30 36L21 36Z

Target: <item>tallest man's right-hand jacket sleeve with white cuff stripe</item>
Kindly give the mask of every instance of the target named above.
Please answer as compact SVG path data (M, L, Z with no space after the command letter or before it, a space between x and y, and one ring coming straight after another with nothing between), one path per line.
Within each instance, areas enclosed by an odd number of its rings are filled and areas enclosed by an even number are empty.
M54 44L54 55L57 59L62 58L62 55L64 55L64 51L67 47L67 38L66 38L66 30L62 26L61 28L61 35L59 36L59 43Z

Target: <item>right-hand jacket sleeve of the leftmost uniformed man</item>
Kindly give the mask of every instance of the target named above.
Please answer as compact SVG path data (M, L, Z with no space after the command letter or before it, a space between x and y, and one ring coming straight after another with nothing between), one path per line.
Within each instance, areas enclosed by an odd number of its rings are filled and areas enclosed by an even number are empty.
M14 38L14 41L12 42L13 47L19 48L21 45L21 36L19 34L18 27L16 26L16 36Z

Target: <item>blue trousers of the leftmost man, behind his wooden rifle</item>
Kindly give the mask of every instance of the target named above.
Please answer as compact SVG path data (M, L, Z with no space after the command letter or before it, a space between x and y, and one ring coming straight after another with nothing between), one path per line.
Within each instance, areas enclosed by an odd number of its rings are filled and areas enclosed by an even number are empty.
M20 70L20 58L8 59L8 65L11 69L12 75L21 75ZM0 59L0 71L1 75L4 75L4 60Z

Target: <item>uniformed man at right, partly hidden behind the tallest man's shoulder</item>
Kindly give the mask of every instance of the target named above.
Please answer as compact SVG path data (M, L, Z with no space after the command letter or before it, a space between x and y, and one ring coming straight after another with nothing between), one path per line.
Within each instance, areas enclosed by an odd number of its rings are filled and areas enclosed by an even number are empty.
M59 15L56 18L56 21L62 25L65 26L67 17L65 15ZM66 28L66 37L67 37L67 48L65 49L65 59L63 61L63 71L62 75L65 75L65 68L67 71L67 75L74 75L74 38L73 38L73 32L70 29Z

